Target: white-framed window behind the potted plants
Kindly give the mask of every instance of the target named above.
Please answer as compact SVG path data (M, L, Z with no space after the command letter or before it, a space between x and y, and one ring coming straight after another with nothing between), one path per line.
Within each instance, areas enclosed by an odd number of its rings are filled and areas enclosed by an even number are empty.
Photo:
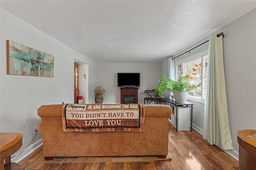
M188 98L204 100L206 93L206 77L208 66L208 51L194 55L188 59L175 63L176 78L188 76L193 86Z

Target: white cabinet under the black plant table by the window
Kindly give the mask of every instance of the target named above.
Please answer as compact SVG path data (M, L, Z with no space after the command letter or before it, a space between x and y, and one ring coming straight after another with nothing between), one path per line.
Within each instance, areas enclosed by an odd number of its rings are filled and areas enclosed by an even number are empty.
M187 106L174 106L171 104L174 111L171 114L171 121L174 127L178 131L190 131L190 109L191 107ZM178 124L178 128L177 128Z

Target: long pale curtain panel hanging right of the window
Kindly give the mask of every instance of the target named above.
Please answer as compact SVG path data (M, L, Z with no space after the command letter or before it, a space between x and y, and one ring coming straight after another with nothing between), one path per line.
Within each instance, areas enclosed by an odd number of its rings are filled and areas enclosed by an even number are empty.
M204 107L204 139L222 149L234 149L226 98L222 36L209 36L209 58Z

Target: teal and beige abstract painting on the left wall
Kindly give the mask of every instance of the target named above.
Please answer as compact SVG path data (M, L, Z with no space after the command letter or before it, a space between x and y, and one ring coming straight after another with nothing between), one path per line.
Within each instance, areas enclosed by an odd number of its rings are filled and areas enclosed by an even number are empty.
M7 40L7 74L54 76L54 56Z

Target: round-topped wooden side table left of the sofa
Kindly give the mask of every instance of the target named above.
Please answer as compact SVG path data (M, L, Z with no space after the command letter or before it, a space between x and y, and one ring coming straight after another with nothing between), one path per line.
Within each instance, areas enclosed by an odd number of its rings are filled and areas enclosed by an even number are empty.
M19 170L20 165L11 162L11 155L22 146L22 135L20 133L0 133L0 169ZM5 159L5 165L4 165Z

